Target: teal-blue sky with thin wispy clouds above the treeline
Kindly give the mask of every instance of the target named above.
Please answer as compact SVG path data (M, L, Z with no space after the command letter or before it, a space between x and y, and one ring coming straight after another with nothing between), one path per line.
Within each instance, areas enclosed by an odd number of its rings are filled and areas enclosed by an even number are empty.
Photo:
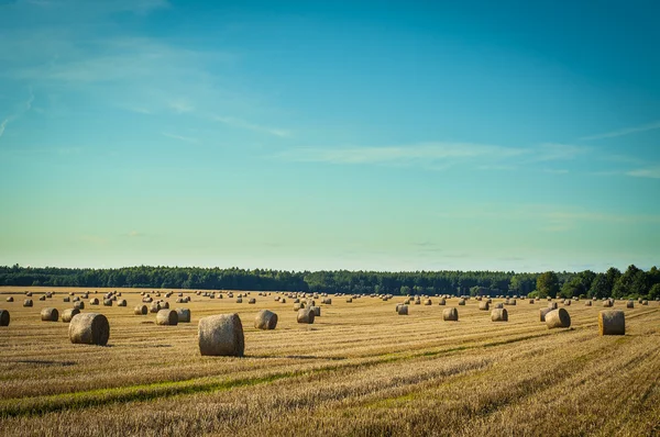
M562 3L0 0L0 264L657 265L660 8Z

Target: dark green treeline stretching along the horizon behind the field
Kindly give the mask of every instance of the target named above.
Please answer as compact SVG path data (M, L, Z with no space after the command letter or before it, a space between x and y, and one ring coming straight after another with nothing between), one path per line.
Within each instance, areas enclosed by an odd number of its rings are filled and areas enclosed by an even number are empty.
M503 271L285 271L239 268L125 267L65 269L0 267L0 285L312 291L349 294L532 295L660 299L660 270L629 266L605 273Z

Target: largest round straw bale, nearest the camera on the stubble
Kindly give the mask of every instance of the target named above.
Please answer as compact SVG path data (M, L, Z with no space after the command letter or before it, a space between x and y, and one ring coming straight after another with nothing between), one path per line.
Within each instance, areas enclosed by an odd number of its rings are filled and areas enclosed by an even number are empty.
M238 314L202 317L198 325L202 356L242 357L245 349L243 325Z

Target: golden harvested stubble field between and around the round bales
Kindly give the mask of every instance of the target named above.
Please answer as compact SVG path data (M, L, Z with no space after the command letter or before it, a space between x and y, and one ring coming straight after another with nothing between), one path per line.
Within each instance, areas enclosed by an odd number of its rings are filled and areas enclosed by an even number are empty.
M31 290L38 299L52 289ZM275 293L256 292L249 305L184 291L191 302L177 306L191 310L191 323L157 326L155 314L133 315L140 290L118 289L128 307L82 311L110 321L109 346L94 347L72 345L66 323L40 322L43 307L73 305L62 302L72 289L56 291L34 307L18 295L0 299L11 312L11 325L0 328L2 435L660 433L656 302L626 309L617 301L626 335L601 337L600 305L571 306L571 329L548 330L540 303L508 306L509 322L493 324L470 300L458 323L443 323L440 305L414 305L399 317L393 304L404 298L338 298L307 325ZM89 298L108 290L98 291ZM275 330L253 327L264 309L277 313ZM234 312L245 357L201 357L199 318Z

